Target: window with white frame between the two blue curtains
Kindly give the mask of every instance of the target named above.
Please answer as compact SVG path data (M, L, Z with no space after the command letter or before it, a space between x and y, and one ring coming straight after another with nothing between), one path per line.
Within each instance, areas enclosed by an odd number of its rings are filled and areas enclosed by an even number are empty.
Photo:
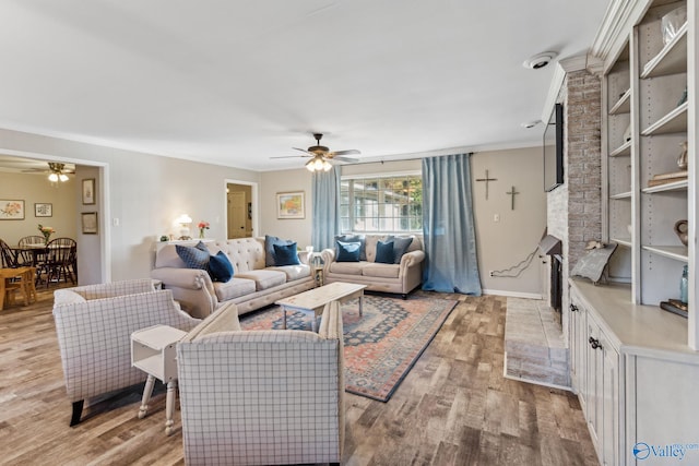
M422 177L415 174L343 177L340 227L343 232L422 232Z

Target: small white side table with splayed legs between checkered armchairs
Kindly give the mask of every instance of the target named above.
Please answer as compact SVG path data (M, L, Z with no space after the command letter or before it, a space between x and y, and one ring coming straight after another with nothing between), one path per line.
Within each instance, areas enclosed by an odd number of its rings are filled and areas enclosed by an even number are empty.
M169 325L153 325L131 334L131 366L149 374L143 389L143 398L139 409L139 419L143 419L149 410L149 402L153 394L155 379L167 384L165 398L165 433L173 433L173 415L175 414L175 391L177 390L176 345L187 332Z

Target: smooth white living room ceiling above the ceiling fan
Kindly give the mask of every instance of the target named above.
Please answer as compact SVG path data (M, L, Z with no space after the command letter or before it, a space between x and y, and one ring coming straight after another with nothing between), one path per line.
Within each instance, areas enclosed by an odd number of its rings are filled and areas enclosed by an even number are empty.
M0 128L254 170L531 146L608 0L2 0Z

